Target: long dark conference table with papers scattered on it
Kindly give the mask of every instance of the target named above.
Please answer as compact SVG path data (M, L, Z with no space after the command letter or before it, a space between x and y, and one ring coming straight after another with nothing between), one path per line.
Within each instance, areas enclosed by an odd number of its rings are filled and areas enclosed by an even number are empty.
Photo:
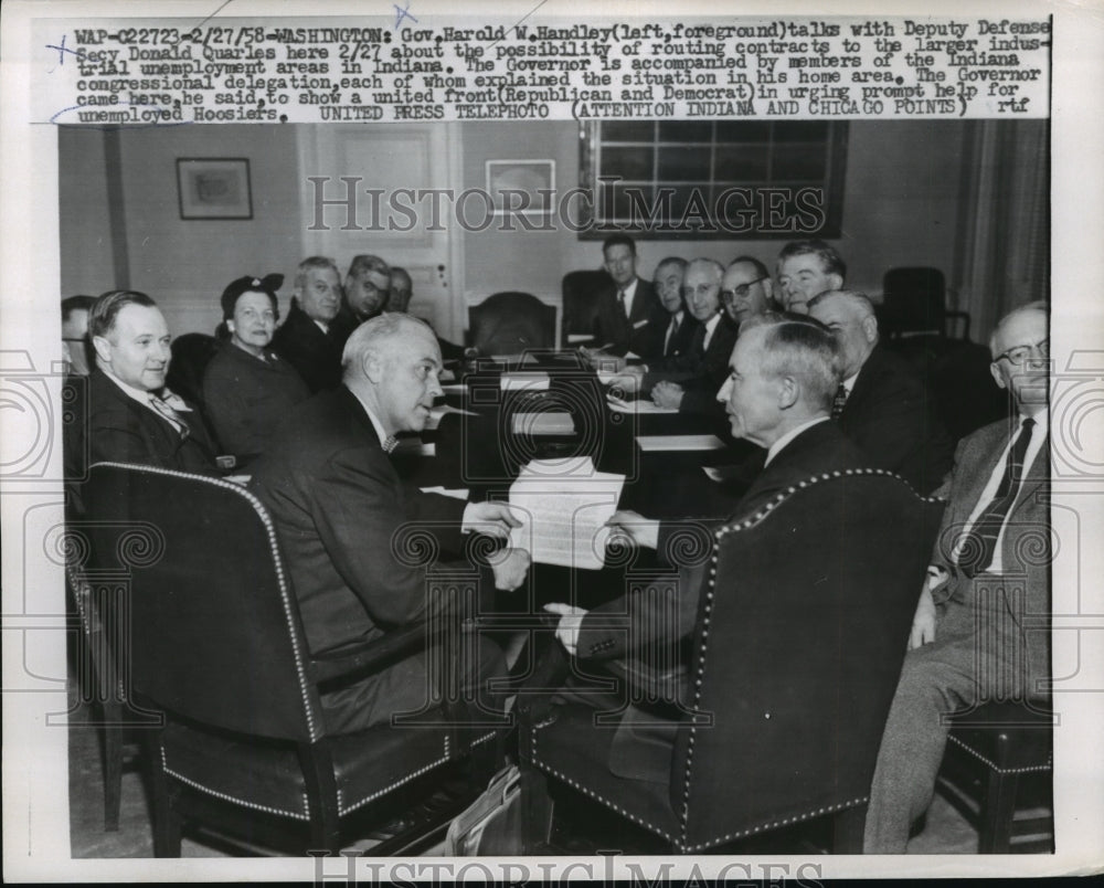
M574 351L480 359L457 366L452 376L435 427L405 436L393 454L400 474L422 489L508 500L530 461L554 467L590 457L596 472L625 476L618 509L659 519L718 518L730 514L741 487L721 485L703 469L754 463L762 453L734 441L715 415L638 412L631 401L628 410L615 409L608 395L618 390L616 378ZM671 568L650 550L611 552L606 565L594 570L533 564L528 606L539 612L548 602L564 602L588 609L623 594L633 575L664 570Z

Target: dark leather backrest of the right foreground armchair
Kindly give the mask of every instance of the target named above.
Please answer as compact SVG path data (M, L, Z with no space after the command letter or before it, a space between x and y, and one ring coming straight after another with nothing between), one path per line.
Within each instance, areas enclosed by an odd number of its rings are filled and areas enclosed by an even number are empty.
M671 772L687 849L864 801L941 514L850 471L718 531L690 685L713 725Z

